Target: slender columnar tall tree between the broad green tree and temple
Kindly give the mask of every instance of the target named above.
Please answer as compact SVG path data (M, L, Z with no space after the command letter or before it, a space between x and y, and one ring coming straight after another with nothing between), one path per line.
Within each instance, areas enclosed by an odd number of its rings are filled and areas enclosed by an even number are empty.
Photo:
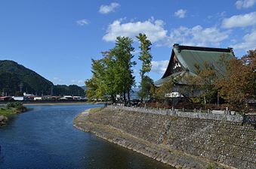
M149 77L145 77L145 74L151 71L151 61L152 61L152 55L150 54L151 50L151 42L147 39L147 35L145 34L139 34L136 36L136 38L140 41L140 56L139 59L142 62L142 67L140 69L140 92L139 96L141 98L141 101L143 101L143 98L147 97L149 95L149 90L147 89L150 80Z

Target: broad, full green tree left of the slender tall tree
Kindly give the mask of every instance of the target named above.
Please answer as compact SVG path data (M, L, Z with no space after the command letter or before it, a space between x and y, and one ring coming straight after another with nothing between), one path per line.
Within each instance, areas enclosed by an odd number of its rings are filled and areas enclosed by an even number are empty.
M134 86L133 70L136 62L133 62L133 41L128 37L116 38L116 45L109 52L104 52L103 59L92 59L90 80L85 81L88 87L88 98L102 98L111 95L115 101L115 95L128 93Z

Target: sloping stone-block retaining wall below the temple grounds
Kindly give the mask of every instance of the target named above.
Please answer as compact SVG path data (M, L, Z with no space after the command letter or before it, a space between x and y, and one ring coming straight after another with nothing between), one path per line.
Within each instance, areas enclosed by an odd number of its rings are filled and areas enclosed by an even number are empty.
M215 118L211 114L165 112L141 113L131 111L130 107L107 107L89 115L88 121L118 128L150 143L167 145L170 152L175 149L236 168L256 168L253 125L242 125L237 122L239 118L228 116L221 120L223 116Z

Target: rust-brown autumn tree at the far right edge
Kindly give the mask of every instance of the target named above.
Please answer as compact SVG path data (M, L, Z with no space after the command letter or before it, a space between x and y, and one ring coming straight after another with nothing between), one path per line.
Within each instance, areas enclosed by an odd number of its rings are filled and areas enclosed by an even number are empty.
M250 50L242 59L231 59L227 75L216 83L221 97L240 110L248 99L256 97L255 53L255 50Z

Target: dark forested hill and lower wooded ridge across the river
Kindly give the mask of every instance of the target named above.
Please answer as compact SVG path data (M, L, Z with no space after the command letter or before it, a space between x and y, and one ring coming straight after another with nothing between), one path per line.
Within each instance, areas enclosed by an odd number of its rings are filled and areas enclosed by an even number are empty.
M35 95L85 95L76 85L56 85L35 71L10 60L0 60L0 95L15 95L22 89Z

